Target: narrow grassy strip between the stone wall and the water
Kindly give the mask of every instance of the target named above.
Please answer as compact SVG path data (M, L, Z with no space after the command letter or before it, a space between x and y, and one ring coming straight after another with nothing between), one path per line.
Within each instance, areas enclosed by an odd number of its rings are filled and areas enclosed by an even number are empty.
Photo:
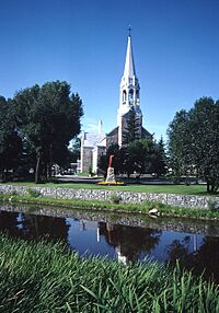
M177 208L166 206L157 202L143 202L143 204L114 204L111 199L107 201L97 200L80 200L80 199L56 199L49 197L34 197L34 196L19 196L19 195L1 195L0 201L7 204L36 204L44 206L57 207L60 209L72 210L76 208L112 212L132 212L132 213L148 213L152 208L158 208L159 213L165 217L182 217L191 219L204 219L204 220L219 220L219 211L214 207L210 209L189 209Z

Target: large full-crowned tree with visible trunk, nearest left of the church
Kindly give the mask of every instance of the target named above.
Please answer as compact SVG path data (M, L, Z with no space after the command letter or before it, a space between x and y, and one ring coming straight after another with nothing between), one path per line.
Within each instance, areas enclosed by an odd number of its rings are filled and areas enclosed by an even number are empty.
M35 154L35 182L51 176L53 164L62 164L69 141L80 132L83 115L78 94L67 82L47 82L18 92L14 104L23 140Z

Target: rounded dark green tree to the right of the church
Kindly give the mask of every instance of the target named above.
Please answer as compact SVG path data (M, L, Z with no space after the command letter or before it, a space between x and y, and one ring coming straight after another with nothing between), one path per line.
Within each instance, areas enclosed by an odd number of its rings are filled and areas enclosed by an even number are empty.
M169 149L180 173L195 171L207 192L219 187L219 101L201 97L194 107L176 113L169 127Z

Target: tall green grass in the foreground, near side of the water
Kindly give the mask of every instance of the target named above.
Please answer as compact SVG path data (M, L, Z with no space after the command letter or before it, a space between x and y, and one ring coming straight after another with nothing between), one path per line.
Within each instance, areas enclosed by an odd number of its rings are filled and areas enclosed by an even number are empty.
M219 289L176 266L83 259L0 236L0 312L219 312Z

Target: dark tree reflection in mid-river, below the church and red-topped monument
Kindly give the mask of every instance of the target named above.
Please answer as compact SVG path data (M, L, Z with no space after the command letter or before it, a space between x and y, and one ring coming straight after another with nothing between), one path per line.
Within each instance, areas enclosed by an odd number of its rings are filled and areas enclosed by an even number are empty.
M127 225L100 223L100 234L119 250L127 260L135 262L142 252L149 253L159 243L161 231Z

